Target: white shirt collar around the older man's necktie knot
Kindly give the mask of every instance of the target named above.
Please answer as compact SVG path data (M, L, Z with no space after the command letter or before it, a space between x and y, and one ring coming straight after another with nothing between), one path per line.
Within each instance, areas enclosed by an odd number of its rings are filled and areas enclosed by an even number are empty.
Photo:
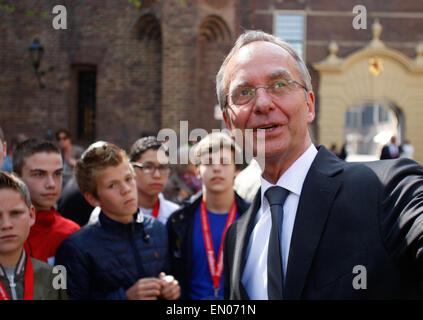
M294 193L298 196L301 194L301 189L303 188L304 180L307 176L308 170L311 167L311 164L314 161L314 158L317 155L317 149L314 144L310 144L307 150L297 159L295 162L286 170L278 179L276 184L272 184L263 176L260 176L261 179L261 204L268 205L264 193L267 189L272 186L280 186L289 190L291 193Z

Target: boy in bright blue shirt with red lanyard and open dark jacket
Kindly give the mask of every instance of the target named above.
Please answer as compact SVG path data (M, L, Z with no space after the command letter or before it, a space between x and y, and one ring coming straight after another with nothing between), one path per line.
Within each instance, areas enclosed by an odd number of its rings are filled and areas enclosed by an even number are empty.
M211 133L196 144L194 154L202 193L168 220L171 270L182 299L222 299L225 232L249 206L233 191L240 150L228 135Z

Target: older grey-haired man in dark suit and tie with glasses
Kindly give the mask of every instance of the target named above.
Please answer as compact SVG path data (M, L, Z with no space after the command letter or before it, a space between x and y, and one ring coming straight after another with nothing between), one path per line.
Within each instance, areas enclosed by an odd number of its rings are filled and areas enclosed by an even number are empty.
M265 135L261 189L225 238L225 298L421 298L423 168L316 148L308 70L270 34L242 34L216 80L228 128L253 130L255 151Z

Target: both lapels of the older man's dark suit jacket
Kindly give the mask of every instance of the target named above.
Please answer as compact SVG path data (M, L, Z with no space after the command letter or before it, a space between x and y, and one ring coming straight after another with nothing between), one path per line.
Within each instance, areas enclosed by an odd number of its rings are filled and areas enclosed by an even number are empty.
M318 153L304 181L295 218L285 283L286 299L301 297L332 202L342 184L339 174L343 171L343 165L344 162L325 147L318 147ZM260 195L261 189L257 191L252 205L236 225L231 282L237 291L235 295L242 299L248 299L241 279L248 242L261 204Z

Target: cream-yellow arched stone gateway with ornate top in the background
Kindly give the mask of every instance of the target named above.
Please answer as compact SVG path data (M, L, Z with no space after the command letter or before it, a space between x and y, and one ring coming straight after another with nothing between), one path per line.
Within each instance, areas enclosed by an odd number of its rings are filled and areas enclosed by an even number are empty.
M381 28L376 22L368 46L345 58L337 56L338 46L331 42L329 56L313 65L320 75L319 143L342 145L347 110L376 104L393 112L399 142L410 140L414 159L423 163L423 45L416 46L417 55L410 59L385 46L379 39ZM376 140L385 139L381 134Z

